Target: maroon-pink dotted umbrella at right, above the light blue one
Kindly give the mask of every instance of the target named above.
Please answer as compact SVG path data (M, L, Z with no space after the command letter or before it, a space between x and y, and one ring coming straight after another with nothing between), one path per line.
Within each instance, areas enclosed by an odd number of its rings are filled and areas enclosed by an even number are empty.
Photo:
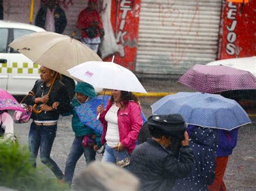
M221 65L194 65L178 82L201 93L256 89L256 77L252 73Z

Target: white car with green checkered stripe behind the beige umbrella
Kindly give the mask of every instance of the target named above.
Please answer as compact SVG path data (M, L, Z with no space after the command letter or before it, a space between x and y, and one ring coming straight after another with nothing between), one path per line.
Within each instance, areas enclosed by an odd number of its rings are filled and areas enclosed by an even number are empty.
M39 66L8 45L16 38L44 29L0 20L0 88L12 95L25 95L39 79Z

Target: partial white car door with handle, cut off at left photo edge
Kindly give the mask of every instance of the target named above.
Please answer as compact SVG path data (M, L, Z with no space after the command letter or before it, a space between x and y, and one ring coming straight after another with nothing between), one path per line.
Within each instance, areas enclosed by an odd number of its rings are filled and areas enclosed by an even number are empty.
M0 88L7 89L8 81L8 43L9 43L9 30L6 28L0 28Z

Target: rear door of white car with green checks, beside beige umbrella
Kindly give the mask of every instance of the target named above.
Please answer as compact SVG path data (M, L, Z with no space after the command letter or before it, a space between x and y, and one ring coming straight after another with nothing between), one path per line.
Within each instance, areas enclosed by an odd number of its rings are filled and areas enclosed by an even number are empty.
M26 29L12 29L12 39L33 33L35 31ZM10 48L10 59L8 62L9 75L7 90L15 95L27 94L39 79L38 65L23 54Z

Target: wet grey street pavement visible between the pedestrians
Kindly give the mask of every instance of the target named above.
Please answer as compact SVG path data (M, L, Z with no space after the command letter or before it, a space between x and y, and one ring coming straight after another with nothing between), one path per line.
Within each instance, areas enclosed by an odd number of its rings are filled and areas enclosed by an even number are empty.
M190 88L176 83L175 80L142 80L147 91L168 91L176 93L178 91L193 91ZM139 97L142 110L146 117L151 115L150 105L160 97ZM256 113L256 112L255 112ZM233 154L228 161L224 180L228 190L256 190L256 117L250 117L252 124L242 126L239 130L238 144L233 150ZM28 143L28 132L30 123L15 124L15 133L18 136L21 145ZM71 116L60 117L58 121L58 131L55 143L52 147L51 157L57 162L64 171L65 161L69 154L69 149L73 141L73 132L71 130ZM97 154L100 160L102 155ZM38 165L44 166L39 158ZM86 166L84 156L77 162L75 176ZM43 171L49 176L54 177L48 168Z

